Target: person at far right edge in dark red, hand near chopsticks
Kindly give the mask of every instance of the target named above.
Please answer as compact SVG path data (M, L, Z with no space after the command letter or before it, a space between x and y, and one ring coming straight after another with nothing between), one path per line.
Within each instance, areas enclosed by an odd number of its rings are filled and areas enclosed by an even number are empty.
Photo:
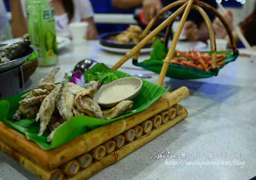
M232 25L233 23L233 14L230 10L228 10L225 14L223 14L223 17L226 19L227 23ZM212 23L212 28L215 31L215 35L217 38L226 39L228 40L228 47L231 47L231 43L229 40L229 37L227 35L227 31L220 21L219 18L215 18L214 22ZM239 28L241 32L243 33L245 39L248 41L248 43L252 46L253 49L256 49L256 5L253 10L253 12L247 16L242 22L239 24ZM240 39L236 32L232 31L234 40L236 43L240 43Z

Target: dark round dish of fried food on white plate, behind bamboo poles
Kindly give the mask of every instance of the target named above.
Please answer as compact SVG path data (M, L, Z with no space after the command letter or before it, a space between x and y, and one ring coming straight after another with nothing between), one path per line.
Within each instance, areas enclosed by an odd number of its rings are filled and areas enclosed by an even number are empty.
M143 31L138 25L130 25L126 31L116 31L102 34L100 36L98 46L104 50L114 53L127 53L138 44L142 33ZM152 38L150 42L141 48L141 53L151 52L151 46L156 39L163 41L164 34L159 33L156 37Z

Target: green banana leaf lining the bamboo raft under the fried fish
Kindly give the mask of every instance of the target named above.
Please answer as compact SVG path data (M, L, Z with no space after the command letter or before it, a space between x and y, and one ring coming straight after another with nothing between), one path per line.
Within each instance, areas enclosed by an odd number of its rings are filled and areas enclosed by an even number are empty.
M86 73L95 75L95 72L100 71L113 72L119 79L132 77L130 74L118 70L113 70L104 64L99 63L95 64ZM100 125L104 125L118 119L123 119L126 116L145 110L159 97L164 95L169 89L165 89L157 84L147 82L143 79L142 82L142 89L137 97L133 99L134 105L130 113L110 120L97 119L88 116L75 116L56 130L51 143L47 142L47 136L50 134L50 130L47 129L44 135L37 136L40 128L39 121L36 122L35 119L29 119L27 117L22 117L19 121L12 119L12 116L19 107L18 102L22 100L20 97L28 91L0 100L0 119L10 127L14 128L16 131L25 134L27 139L36 142L41 148L50 150L76 138L79 135L94 130Z

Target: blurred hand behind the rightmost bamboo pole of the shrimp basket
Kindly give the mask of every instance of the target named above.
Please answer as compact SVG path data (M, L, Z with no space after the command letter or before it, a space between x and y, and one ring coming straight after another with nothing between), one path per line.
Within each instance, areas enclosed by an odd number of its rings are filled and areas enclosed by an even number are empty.
M232 12L230 10L227 10L227 12L223 14L223 17L226 19L228 25L231 27L233 23ZM224 25L222 24L221 20L218 17L215 18L214 22L212 22L212 28L214 29L215 36L217 38L224 38L225 35L227 34Z

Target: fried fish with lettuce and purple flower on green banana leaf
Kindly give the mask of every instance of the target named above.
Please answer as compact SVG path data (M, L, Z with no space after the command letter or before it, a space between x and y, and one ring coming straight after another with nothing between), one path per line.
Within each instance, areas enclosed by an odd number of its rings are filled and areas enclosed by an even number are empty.
M59 68L55 67L47 78L41 79L37 89L0 101L0 118L5 116L1 120L47 150L56 148L99 125L143 111L168 90L142 79L139 80L142 85L134 83L134 86L138 86L134 89L139 91L137 97L143 98L123 100L116 107L105 109L93 100L99 86L133 77L132 75L97 63L85 73L76 71L72 76L65 73L61 83L54 84L54 76L58 70ZM129 82L133 85L134 80ZM148 93L149 89L151 93ZM48 103L51 99L56 99L53 104ZM9 107L6 104L10 105L8 114L5 113L6 107ZM51 107L45 109L45 106Z

